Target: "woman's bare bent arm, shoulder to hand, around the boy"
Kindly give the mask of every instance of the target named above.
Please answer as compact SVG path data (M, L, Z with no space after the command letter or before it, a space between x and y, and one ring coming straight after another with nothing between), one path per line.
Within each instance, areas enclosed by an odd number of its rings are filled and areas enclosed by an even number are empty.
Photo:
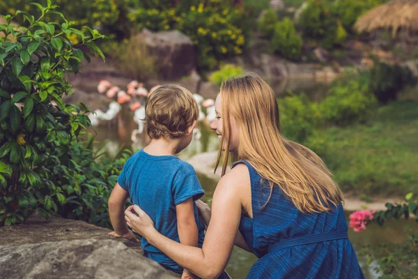
M151 245L180 266L201 278L217 278L224 271L235 243L241 217L242 185L249 183L245 181L248 177L248 174L242 175L234 168L219 181L213 195L212 217L202 248L185 246L163 236L139 206L130 206L125 211L125 218L134 232L144 236ZM135 216L132 210L139 216Z

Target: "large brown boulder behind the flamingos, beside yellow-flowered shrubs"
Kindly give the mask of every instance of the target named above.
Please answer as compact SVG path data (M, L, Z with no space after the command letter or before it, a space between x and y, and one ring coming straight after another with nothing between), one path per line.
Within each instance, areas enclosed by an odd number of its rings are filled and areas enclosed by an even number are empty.
M137 38L144 40L150 55L157 58L164 80L176 80L196 69L192 39L178 30L151 32L143 29Z

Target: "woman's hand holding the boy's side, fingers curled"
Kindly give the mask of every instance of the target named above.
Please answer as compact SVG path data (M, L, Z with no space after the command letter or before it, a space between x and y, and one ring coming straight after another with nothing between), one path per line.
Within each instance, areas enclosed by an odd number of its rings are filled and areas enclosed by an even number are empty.
M138 216L136 216L135 213L137 213ZM146 239L150 233L155 231L153 220L136 204L129 206L125 210L125 220L127 225L132 228L132 231L141 234L141 236L144 236Z

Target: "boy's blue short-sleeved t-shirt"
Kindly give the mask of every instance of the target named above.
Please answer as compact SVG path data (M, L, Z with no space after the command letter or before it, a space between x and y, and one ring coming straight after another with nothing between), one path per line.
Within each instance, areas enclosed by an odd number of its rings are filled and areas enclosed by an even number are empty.
M119 185L127 190L132 204L137 204L153 219L155 228L169 239L180 242L177 232L176 205L193 197L199 199L205 193L194 168L176 156L152 156L144 150L134 153L127 160ZM194 218L199 230L199 247L204 239L204 225L199 221L196 203ZM162 266L181 273L183 268L163 252L142 238L142 248L148 258Z

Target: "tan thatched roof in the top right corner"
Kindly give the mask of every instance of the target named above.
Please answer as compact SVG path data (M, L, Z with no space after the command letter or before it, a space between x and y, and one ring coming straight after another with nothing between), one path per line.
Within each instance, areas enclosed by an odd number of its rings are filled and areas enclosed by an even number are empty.
M355 23L359 32L392 29L392 36L399 30L418 31L418 0L393 0L369 10Z

